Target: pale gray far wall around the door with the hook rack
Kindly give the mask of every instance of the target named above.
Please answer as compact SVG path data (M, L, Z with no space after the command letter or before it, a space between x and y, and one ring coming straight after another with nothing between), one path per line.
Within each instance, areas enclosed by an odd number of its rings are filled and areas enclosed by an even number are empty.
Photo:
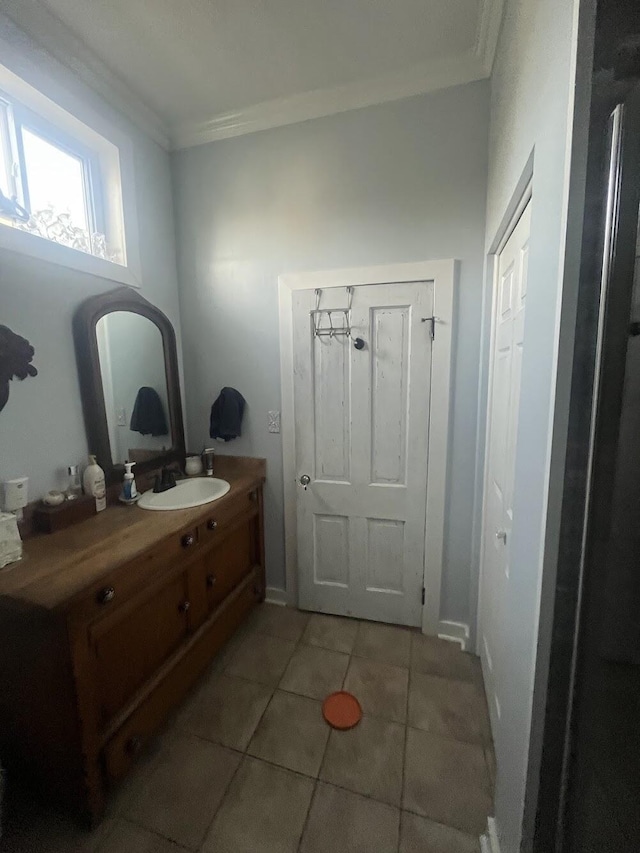
M268 460L273 587L284 586L281 443L267 432L280 408L278 275L459 258L441 615L468 621L487 134L479 82L174 155L191 447L208 441L220 388L237 387L244 434L222 450Z

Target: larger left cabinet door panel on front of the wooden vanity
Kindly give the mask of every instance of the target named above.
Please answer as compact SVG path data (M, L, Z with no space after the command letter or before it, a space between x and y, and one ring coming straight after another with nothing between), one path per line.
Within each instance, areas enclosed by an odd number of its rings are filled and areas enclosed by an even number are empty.
M108 722L180 645L187 633L186 578L174 576L123 615L91 629L103 723Z

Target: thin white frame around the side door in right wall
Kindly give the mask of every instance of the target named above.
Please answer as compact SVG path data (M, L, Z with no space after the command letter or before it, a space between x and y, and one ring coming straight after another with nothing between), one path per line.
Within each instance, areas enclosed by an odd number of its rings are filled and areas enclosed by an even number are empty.
M489 252L489 276L491 279L491 332L489 336L489 377L487 383L487 411L485 417L485 433L484 433L484 454L483 454L483 477L482 477L482 511L480 513L480 554L478 560L478 605L476 609L476 653L482 657L482 589L485 574L484 565L484 547L485 547L485 524L487 512L487 492L489 490L489 449L491 443L491 395L493 394L493 347L495 344L496 335L496 296L498 293L498 257L507 242L509 237L518 224L520 217L524 213L526 206L533 197L533 181L529 178L526 188L519 200L516 202L515 208L512 208L513 213L507 219L503 227L500 228L499 236L494 241L494 245ZM487 650L484 650L485 654Z

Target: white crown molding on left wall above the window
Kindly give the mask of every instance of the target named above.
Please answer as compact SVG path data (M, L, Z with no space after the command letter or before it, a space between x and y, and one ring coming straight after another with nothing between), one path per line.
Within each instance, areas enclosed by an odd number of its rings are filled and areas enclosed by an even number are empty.
M165 150L170 148L167 128L154 110L38 0L2 0L2 13L158 145ZM11 35L20 38L20 33Z

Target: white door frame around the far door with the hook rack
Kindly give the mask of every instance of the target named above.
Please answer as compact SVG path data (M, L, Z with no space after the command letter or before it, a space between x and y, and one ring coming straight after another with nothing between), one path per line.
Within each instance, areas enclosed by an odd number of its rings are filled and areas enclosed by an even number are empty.
M429 447L424 586L426 604L422 609L422 630L437 634L440 619L440 587L447 500L449 410L451 406L451 344L454 291L458 262L454 260L385 264L321 272L281 275L278 278L280 308L280 380L282 388L282 463L284 474L285 570L288 604L296 605L297 523L296 523L296 441L293 392L293 292L329 287L356 287L370 284L433 282L435 339L431 352L431 404L429 406Z

